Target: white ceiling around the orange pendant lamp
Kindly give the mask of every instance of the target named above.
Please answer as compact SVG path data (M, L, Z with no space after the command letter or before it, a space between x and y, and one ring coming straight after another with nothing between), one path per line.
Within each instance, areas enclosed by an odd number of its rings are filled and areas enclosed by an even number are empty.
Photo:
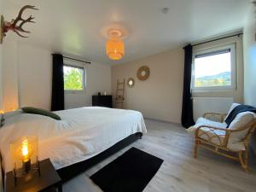
M134 61L189 42L243 27L247 0L5 0L8 19L25 4L36 5L37 23L20 39L66 55L103 64ZM169 12L162 13L163 8ZM125 32L125 56L105 53L111 28Z

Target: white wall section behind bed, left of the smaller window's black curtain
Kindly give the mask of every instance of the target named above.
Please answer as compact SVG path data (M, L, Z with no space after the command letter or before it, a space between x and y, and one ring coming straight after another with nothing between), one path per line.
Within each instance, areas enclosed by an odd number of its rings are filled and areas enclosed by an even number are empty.
M20 107L50 108L51 51L27 44L18 45Z

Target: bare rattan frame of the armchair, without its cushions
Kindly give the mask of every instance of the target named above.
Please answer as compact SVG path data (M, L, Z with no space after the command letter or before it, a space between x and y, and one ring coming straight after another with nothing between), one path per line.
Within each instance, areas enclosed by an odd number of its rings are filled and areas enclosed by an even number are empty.
M219 113L205 113L204 118L215 120L218 122L224 122L224 117L226 114ZM208 128L209 131L200 131L201 128ZM256 119L253 119L249 124L241 126L239 129L230 130L226 128L213 127L208 125L201 125L195 131L195 148L194 148L194 157L197 158L198 147L206 148L216 154L221 154L225 157L230 158L231 160L236 160L240 162L242 169L245 172L248 172L248 153L249 153L249 141L253 135L253 132L256 129ZM230 140L230 135L238 131L247 131L247 135L241 142L244 144L245 150L234 151L228 148L228 143ZM224 135L217 134L216 131L224 131ZM211 135L209 133L211 132ZM201 136L206 135L208 140L202 139ZM219 145L212 143L212 138L218 138ZM224 137L224 138L223 138Z

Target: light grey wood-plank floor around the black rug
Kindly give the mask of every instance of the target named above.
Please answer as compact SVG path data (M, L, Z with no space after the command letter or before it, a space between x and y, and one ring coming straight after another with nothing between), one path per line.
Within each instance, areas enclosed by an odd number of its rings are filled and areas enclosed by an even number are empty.
M79 177L64 184L64 192L101 192L90 176L131 147L140 148L165 160L144 192L255 192L256 158L250 156L250 174L236 161L199 149L194 159L193 139L178 126L146 120L148 134ZM132 191L131 191L132 192Z

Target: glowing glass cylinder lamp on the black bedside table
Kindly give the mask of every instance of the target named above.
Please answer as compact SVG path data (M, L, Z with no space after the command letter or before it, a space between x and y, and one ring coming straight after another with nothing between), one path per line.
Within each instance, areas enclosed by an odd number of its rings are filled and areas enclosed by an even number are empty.
M20 137L10 143L15 177L38 170L38 137Z

